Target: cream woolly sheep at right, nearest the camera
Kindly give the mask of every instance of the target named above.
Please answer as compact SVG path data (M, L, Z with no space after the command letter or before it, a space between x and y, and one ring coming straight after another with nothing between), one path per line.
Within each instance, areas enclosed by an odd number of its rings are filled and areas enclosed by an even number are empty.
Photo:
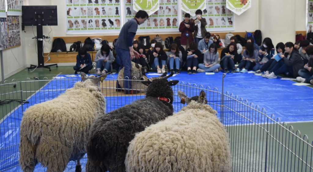
M204 91L187 106L144 131L128 147L126 171L232 171L228 134Z

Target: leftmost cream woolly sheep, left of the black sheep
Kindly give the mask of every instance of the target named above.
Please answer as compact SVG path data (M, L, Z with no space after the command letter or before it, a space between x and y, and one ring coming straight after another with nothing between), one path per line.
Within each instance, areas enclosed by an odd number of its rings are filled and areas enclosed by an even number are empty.
M33 171L38 162L47 171L64 171L70 160L86 154L88 132L97 114L105 113L106 100L99 91L99 77L87 77L59 97L30 106L20 126L19 164L23 171Z

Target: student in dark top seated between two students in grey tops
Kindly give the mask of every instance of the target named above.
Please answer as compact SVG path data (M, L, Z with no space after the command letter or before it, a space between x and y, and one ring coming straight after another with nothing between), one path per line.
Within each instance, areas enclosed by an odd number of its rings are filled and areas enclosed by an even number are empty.
M186 61L187 73L196 74L199 61L201 61L201 52L197 48L196 42L191 42L189 48L186 50L182 56L182 60ZM203 59L202 59L203 61ZM192 70L191 70L192 68Z

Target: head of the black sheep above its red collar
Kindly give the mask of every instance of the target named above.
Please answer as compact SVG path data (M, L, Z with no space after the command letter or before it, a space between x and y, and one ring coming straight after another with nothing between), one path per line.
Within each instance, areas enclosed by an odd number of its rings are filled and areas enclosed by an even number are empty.
M167 81L167 79L155 79L153 81L142 81L143 84L148 86L146 91L146 96L151 97L166 97L170 101L169 103L173 103L173 90L171 86L175 86L178 81Z

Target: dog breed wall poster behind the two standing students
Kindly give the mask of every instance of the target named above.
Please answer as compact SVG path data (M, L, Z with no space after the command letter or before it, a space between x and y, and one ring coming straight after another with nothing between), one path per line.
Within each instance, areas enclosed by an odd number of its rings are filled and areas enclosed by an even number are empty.
M226 0L207 0L206 4L207 7L202 11L202 17L207 21L207 31L234 30L234 14L226 8ZM182 20L184 20L185 13L182 11Z

